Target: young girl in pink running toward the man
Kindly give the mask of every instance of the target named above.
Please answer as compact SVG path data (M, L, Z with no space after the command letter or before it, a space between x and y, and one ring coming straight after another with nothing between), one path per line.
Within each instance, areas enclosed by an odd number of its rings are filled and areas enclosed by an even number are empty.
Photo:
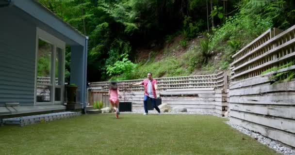
M116 114L116 118L119 118L119 88L118 88L118 84L116 81L111 81L110 85L109 85L109 95L110 95L110 102L113 106L113 109L115 110L115 114Z

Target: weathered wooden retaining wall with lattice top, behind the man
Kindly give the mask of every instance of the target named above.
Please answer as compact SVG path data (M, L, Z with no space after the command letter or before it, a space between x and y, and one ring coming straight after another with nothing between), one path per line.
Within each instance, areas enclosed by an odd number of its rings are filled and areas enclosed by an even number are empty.
M200 75L188 77L156 78L158 81L157 97L162 98L163 104L171 107L183 107L188 111L216 112L224 115L228 109L227 92L224 91L227 76L223 72L215 75ZM132 109L143 109L144 87L129 87L128 84L138 80L118 81L120 93L127 102L132 102ZM226 82L225 82L226 81ZM108 90L109 82L93 82L90 88ZM122 98L121 100L124 101ZM90 103L91 105L91 103Z

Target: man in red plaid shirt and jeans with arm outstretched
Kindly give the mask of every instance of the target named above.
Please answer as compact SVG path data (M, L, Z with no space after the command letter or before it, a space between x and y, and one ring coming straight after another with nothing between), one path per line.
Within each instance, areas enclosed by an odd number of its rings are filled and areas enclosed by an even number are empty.
M144 108L145 108L145 113L144 115L148 114L148 99L151 99L152 106L161 114L160 109L156 105L156 90L157 90L157 80L151 78L152 74L148 72L148 78L144 79L141 82L131 84L131 86L139 86L139 85L144 85L145 87L145 96L144 96Z

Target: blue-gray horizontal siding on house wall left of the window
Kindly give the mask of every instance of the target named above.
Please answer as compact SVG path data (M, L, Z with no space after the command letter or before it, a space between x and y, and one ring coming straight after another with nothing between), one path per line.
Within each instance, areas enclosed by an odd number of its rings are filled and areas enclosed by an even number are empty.
M36 26L0 8L0 106L33 105Z

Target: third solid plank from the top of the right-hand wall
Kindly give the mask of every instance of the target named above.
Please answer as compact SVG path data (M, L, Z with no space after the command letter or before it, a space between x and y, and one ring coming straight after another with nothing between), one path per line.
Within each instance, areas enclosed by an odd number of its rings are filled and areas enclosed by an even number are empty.
M295 93L268 93L263 96L231 96L230 104L295 105Z

